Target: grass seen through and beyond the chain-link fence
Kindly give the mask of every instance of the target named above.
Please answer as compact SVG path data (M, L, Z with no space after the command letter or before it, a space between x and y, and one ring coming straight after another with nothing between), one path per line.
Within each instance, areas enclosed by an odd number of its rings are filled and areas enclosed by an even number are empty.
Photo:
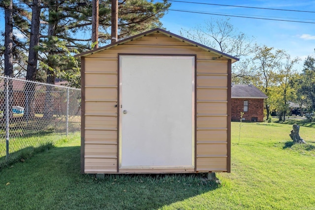
M47 119L36 114L30 120L25 120L23 115L14 114L9 124L8 157L5 128L5 119L0 118L0 168L51 148L62 134L66 134L66 119L57 115ZM80 116L69 117L68 130L80 130Z

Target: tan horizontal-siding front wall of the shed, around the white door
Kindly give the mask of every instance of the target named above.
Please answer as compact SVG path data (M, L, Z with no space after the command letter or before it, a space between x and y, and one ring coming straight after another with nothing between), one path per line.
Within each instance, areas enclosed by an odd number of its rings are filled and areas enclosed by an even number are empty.
M154 33L82 58L82 173L124 173L118 169L118 54L196 55L197 172L230 171L231 60ZM134 170L134 173L145 173ZM151 173L186 172L154 169ZM125 173L132 173L128 171Z

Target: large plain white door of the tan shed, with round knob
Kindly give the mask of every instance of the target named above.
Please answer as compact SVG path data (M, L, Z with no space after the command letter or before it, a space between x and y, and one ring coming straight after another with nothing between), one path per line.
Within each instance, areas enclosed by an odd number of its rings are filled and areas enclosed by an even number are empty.
M119 58L120 168L193 168L195 57Z

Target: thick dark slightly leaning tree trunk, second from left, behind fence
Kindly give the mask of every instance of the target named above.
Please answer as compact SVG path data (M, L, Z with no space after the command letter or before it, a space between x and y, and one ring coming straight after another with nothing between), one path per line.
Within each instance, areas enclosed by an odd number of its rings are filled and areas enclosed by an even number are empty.
M26 79L35 81L37 72L37 60L38 60L38 46L39 42L39 24L40 24L40 0L33 0L32 7L32 24L31 24L31 36L30 36L30 49L29 49L29 61L26 73ZM25 85L25 118L34 117L32 110L32 103L35 95L35 84L26 83Z

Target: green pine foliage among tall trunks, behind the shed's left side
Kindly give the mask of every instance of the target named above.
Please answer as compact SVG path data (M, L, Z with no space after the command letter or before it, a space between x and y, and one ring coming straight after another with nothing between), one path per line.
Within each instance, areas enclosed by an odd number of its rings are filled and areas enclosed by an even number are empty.
M26 75L31 26L32 0L15 1L13 4L13 25L18 34L24 38L13 36L13 44L18 52L14 56L21 63ZM71 84L79 84L80 62L70 58L75 53L91 49L92 7L86 0L78 5L77 0L47 0L41 2L39 26L38 60L40 69L36 80L54 83L55 77L71 80ZM1 4L0 6L3 6ZM159 19L163 17L170 3L167 0L119 0L118 38L123 39L135 33L161 27ZM111 0L99 0L99 42L110 43ZM15 38L15 39L14 39ZM1 45L3 46L3 44ZM0 48L0 56L4 55ZM70 52L70 53L69 53ZM3 66L1 57L1 66ZM16 65L19 66L19 65ZM39 72L40 71L40 72ZM21 75L21 74L20 74ZM72 77L71 77L72 75Z

